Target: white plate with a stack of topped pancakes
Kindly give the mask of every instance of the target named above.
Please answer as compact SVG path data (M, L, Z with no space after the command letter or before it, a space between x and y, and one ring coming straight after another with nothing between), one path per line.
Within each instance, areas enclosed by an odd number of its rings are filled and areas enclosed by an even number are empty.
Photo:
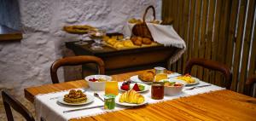
M80 89L71 89L67 95L59 97L57 101L65 105L85 105L94 101L94 96L85 95Z

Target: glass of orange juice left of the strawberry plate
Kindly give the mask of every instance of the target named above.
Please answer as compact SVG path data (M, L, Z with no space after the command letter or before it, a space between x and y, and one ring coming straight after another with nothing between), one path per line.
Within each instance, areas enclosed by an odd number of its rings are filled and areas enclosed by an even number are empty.
M117 81L107 81L105 85L105 95L119 95L119 85Z

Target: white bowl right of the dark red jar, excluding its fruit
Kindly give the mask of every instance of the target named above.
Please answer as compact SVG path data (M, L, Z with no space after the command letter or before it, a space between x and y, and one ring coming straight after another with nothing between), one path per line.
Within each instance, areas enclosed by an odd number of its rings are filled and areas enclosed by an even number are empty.
M164 79L161 81L177 82L179 84L183 84L182 86L165 86L165 95L179 95L185 85L182 81L179 80Z

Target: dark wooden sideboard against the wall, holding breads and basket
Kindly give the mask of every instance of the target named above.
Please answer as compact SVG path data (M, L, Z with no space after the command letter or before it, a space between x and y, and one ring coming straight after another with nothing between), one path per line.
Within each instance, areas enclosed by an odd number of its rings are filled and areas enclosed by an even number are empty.
M72 49L75 55L94 55L102 58L105 63L106 74L112 75L123 72L134 72L153 68L154 66L167 67L168 59L177 52L175 47L164 47L161 44L137 49L113 49L103 46L103 49L90 49L91 41L86 45L67 42L67 49ZM154 57L152 57L154 56ZM95 73L96 67L84 66L83 70L90 75ZM85 71L85 72L86 72Z

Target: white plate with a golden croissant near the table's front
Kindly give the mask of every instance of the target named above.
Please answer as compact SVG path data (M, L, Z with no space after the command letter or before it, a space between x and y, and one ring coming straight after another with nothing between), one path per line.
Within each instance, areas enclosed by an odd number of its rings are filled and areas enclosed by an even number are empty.
M125 107L139 107L148 103L146 98L134 89L125 91L115 98L115 103Z

